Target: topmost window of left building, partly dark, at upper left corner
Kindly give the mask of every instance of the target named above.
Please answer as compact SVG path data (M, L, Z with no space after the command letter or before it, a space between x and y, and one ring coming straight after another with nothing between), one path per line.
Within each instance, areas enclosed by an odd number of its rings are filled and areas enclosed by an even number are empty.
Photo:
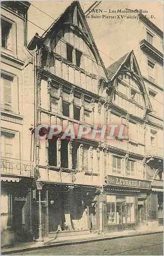
M11 23L1 19L1 46L8 50L11 50L11 27Z

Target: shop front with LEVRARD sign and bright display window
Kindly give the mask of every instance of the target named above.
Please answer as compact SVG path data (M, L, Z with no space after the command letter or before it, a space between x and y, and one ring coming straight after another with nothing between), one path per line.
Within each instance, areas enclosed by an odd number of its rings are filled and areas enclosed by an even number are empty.
M108 176L104 188L104 232L135 229L147 221L151 182Z

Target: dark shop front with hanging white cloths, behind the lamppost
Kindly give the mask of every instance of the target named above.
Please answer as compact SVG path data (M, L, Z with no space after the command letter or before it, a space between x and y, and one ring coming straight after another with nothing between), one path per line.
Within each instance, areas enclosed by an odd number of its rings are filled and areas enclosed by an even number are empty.
M82 185L44 184L41 190L43 238L76 236L99 229L99 189ZM39 198L33 198L33 227L38 239ZM37 215L36 215L37 212Z

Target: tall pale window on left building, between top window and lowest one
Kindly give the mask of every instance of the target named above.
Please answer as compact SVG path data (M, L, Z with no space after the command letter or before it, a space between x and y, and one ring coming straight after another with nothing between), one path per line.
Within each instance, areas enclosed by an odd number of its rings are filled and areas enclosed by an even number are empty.
M13 77L3 73L1 74L1 104L3 105L3 108L7 111L12 110L12 83Z

